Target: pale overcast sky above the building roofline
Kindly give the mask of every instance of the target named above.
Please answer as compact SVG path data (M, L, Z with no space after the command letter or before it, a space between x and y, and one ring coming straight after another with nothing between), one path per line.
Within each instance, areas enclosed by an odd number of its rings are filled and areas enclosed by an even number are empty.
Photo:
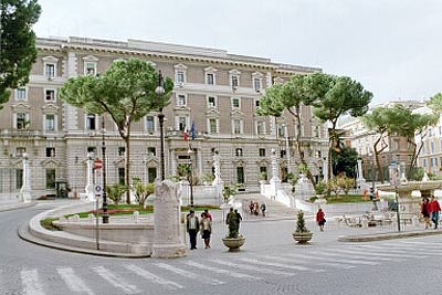
M440 0L39 0L38 36L138 39L350 76L372 104L442 91Z

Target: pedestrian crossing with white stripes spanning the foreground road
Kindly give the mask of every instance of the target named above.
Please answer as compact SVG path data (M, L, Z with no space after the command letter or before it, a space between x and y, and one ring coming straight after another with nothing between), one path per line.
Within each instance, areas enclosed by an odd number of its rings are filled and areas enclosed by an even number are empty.
M18 277L14 277L14 272L6 275L6 270L1 270L0 265L0 294L51 295L60 294L61 289L63 294L87 295L175 294L201 286L222 287L231 282L238 285L263 278L276 281L302 273L320 274L330 270L350 272L356 267L368 268L386 263L442 256L440 245L419 239L299 249L287 253L243 252L179 260L122 260L115 264L60 265L51 270L29 267L18 270ZM8 289L11 286L13 288Z

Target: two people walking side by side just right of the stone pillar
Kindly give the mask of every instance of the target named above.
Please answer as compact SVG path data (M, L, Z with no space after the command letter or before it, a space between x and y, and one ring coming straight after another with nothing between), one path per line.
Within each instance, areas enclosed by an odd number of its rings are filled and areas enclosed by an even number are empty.
M201 213L201 219L194 213L194 210L190 210L189 214L186 215L186 229L189 233L190 250L197 249L197 235L201 233L201 239L204 241L204 249L210 247L210 238L212 235L212 214L209 210L204 210Z

